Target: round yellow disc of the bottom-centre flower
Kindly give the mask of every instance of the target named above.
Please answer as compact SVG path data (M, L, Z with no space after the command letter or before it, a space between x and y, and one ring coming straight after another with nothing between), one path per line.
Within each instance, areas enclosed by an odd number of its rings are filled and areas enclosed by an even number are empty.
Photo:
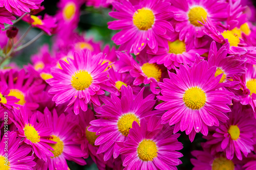
M153 161L157 157L157 145L153 140L144 139L137 148L137 153L142 161Z

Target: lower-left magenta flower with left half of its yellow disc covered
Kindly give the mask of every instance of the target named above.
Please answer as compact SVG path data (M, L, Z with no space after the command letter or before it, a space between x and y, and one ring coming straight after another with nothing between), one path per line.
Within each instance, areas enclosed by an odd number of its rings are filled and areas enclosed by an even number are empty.
M68 114L65 116L61 114L58 116L56 110L53 110L52 114L48 108L44 110L44 114L38 114L40 119L45 122L46 127L52 129L50 140L56 142L50 143L53 148L51 152L54 156L47 156L49 170L69 169L66 159L85 165L86 161L82 157L86 153L82 152L80 145L73 141L77 137L74 130L78 127L78 120L74 115Z

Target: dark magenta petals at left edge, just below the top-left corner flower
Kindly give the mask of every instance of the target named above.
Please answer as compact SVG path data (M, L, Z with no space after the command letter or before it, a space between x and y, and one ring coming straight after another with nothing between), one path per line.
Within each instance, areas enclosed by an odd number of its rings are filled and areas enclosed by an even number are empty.
M0 33L2 32L2 29L5 29L4 23L8 23L12 25L12 21L16 19L15 16L12 15L9 11L5 9L5 7L1 7L0 2Z

